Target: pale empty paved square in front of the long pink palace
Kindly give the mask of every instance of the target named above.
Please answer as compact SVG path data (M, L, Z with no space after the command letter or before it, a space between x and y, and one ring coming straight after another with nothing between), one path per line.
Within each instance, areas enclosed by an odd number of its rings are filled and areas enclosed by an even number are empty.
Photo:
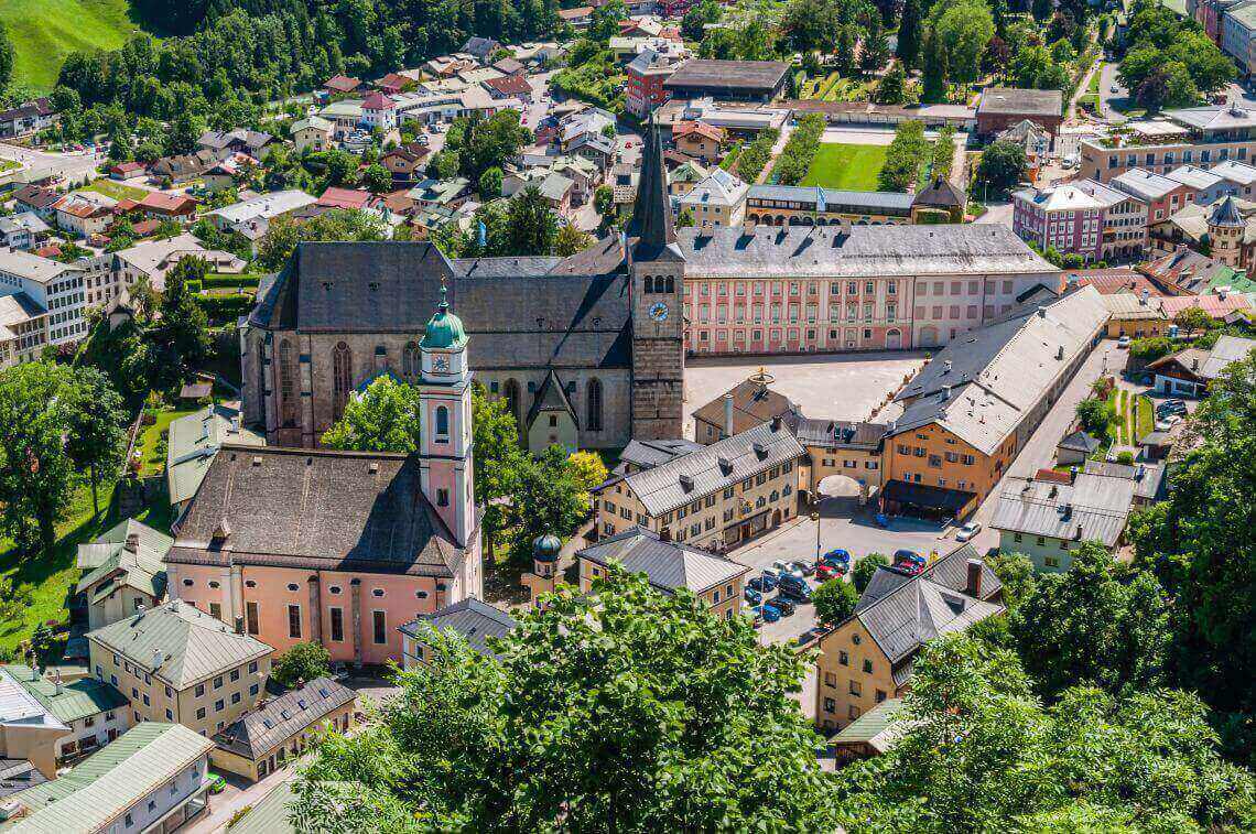
M685 360L685 436L693 437L693 412L745 381L759 368L775 377L806 417L867 420L887 396L924 366L924 353L805 354L786 357L703 357ZM898 416L891 406L883 420Z

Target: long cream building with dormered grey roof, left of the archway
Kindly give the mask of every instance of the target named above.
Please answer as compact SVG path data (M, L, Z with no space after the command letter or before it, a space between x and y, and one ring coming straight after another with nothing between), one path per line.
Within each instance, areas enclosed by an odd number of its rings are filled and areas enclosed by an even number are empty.
M780 418L594 491L598 539L646 528L721 551L796 515L803 447Z

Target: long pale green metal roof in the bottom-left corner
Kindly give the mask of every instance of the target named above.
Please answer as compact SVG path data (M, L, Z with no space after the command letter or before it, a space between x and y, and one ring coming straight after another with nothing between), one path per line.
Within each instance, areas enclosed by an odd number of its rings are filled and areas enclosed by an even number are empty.
M10 796L31 813L8 834L106 830L212 747L182 725L141 722L55 781Z

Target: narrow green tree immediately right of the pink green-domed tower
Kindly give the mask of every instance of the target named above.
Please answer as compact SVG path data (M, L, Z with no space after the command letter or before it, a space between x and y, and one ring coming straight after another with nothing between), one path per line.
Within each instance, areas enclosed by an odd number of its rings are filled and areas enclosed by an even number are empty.
M471 414L476 501L485 507L485 539L492 561L496 534L509 520L506 499L514 494L528 460L519 447L519 425L505 398L490 398L484 386L476 384L471 389Z

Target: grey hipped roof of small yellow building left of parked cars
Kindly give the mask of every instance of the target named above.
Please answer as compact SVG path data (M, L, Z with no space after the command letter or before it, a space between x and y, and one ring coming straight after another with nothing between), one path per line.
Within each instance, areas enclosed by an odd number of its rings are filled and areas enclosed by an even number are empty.
M628 573L646 574L649 584L674 593L687 588L700 594L750 573L750 568L698 548L663 541L657 533L632 528L575 554L595 564L618 564Z

